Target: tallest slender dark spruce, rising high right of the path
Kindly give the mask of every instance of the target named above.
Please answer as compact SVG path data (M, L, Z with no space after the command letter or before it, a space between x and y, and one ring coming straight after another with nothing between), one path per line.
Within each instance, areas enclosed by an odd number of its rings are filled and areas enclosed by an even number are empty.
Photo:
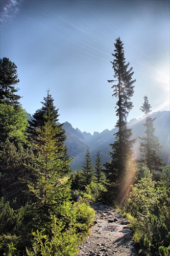
M111 144L112 152L109 153L111 161L104 165L108 180L118 186L119 190L125 185L122 180L125 175L126 163L133 154L132 145L134 140L130 140L132 131L127 127L127 116L133 107L130 99L134 93L133 83L136 81L132 80L133 68L129 69L130 63L126 63L123 45L120 37L118 37L114 44L114 54L112 54L114 60L111 63L115 79L108 80L108 82L114 83L112 96L118 99L115 106L116 116L118 117L115 127L118 131L114 134L115 142Z

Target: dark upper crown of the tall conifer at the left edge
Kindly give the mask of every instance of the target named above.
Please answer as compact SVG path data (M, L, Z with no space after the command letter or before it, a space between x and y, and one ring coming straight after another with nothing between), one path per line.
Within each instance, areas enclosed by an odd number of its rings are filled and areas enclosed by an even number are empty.
M8 103L13 106L18 105L21 98L15 94L19 90L15 85L19 82L17 67L8 58L0 59L0 103Z

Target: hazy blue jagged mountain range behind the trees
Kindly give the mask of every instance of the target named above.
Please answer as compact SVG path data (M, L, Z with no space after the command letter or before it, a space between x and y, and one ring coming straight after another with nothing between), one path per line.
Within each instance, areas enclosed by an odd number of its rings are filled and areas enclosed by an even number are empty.
M29 114L30 118L32 116ZM159 138L160 145L162 146L161 151L158 153L160 158L163 160L163 163L169 163L169 117L170 111L158 111L151 114L154 120L155 135ZM136 159L140 159L139 147L140 139L139 137L144 137L145 119L139 118L132 119L127 123L128 127L132 129L132 138L137 138L133 146L134 154ZM93 135L86 132L81 132L78 128L73 128L72 125L68 122L63 124L63 129L66 133L65 145L68 148L68 154L72 158L74 157L74 162L71 162L72 169L76 170L82 168L83 162L85 161L85 154L87 148L89 148L90 157L92 164L95 165L96 154L98 150L101 155L102 164L110 160L110 155L108 152L112 151L110 144L114 142L114 134L116 133L116 128L114 127L111 131L108 129L103 132L94 132Z

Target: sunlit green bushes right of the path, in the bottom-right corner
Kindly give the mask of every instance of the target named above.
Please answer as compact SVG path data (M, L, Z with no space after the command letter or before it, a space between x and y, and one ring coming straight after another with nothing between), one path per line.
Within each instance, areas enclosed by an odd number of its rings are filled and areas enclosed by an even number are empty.
M133 239L139 254L168 255L170 239L169 165L164 167L160 181L155 182L148 168L132 187L124 203L131 215Z

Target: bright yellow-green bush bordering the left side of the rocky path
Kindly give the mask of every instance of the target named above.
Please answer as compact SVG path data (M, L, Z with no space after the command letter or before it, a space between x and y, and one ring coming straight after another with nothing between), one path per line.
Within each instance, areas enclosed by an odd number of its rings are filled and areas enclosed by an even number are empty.
M27 248L27 255L76 255L93 218L94 210L87 203L64 203L59 209L58 218L52 216L48 234L44 234L44 229L33 232L33 246L32 249Z

